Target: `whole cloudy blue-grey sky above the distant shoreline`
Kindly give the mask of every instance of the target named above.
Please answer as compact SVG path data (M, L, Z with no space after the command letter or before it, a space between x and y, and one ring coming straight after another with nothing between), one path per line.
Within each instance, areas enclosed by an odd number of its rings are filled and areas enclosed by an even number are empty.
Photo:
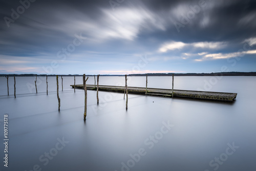
M256 71L256 1L1 1L1 74Z

